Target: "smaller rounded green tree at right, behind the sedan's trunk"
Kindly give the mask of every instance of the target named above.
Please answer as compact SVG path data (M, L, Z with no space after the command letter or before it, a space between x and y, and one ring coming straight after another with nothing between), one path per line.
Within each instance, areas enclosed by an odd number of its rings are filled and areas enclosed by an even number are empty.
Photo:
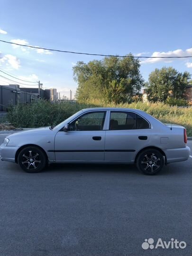
M173 67L156 68L149 74L146 83L148 100L165 102L170 96L184 99L185 87L189 84L190 77L189 72L180 73Z

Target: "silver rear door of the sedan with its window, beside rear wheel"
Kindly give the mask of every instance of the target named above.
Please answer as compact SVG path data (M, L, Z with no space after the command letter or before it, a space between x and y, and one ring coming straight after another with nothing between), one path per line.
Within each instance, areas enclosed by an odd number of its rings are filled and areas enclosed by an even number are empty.
M105 161L134 161L151 137L149 122L135 112L110 111L105 136Z

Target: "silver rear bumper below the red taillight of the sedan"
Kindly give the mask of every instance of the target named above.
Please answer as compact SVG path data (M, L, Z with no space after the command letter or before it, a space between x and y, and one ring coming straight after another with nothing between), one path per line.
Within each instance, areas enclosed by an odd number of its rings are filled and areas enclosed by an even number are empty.
M164 150L164 153L167 158L167 164L188 160L190 152L191 150L189 146Z

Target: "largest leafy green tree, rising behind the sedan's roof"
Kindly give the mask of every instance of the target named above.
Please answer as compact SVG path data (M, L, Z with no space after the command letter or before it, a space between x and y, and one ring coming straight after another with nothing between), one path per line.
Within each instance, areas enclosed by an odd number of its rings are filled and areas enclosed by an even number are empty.
M143 86L139 67L139 60L132 57L105 57L88 64L78 62L73 67L73 77L78 82L77 100L97 98L116 104L132 101Z

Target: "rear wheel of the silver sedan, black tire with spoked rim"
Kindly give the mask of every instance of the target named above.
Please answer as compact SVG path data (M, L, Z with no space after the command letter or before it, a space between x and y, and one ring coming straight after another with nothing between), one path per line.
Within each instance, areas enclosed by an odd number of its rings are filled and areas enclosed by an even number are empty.
M164 157L157 149L148 148L137 157L137 169L146 175L159 173L164 166Z

